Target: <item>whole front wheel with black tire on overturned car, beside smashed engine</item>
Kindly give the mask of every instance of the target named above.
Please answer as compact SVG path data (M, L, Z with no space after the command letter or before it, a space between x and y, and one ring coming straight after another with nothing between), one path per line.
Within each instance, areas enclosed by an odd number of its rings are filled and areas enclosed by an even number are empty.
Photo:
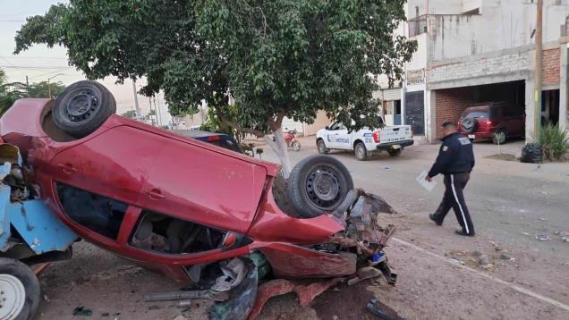
M301 218L330 213L353 189L352 175L331 156L309 156L296 164L286 183L288 200Z

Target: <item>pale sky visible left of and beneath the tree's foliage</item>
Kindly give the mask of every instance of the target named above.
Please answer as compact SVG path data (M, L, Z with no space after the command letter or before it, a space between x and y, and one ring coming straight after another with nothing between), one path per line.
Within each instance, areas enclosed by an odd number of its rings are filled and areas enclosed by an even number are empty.
M0 69L3 69L10 82L25 82L28 76L30 83L47 81L61 81L65 85L78 80L85 80L82 72L78 72L67 63L67 55L64 47L48 48L44 45L32 46L20 55L13 55L15 47L14 37L16 31L26 21L26 17L44 14L52 4L67 3L62 0L0 0ZM134 107L134 93L132 81L125 80L123 85L115 84L114 77L98 80L108 88L116 100L116 113L123 114ZM144 80L138 80L137 90ZM142 114L149 113L149 98L138 96ZM163 124L170 122L170 114L167 113L164 96L160 93L157 97L160 107L160 119Z

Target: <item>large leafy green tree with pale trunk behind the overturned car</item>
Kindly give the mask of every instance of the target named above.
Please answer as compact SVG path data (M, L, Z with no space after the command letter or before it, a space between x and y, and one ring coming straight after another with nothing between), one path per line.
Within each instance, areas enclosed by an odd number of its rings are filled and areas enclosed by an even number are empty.
M61 45L89 79L146 76L171 114L202 100L226 124L265 137L290 171L281 123L319 109L349 129L378 126L370 74L401 79L416 43L395 37L404 0L71 0L28 18L15 53ZM143 54L142 54L143 53ZM240 112L229 117L228 99ZM272 132L276 143L266 137Z

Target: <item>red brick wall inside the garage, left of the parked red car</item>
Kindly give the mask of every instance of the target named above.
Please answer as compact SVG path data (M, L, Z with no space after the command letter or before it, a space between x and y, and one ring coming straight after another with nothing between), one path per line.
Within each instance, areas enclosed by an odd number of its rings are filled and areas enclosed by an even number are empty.
M437 123L437 139L443 138L443 129L440 125L443 122L458 122L464 109L472 101L471 88L446 88L436 92L435 119Z

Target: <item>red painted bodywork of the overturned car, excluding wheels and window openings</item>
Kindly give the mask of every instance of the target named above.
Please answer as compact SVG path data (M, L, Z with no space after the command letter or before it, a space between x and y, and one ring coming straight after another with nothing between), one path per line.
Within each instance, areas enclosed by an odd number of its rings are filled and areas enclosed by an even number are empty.
M309 248L344 231L342 221L329 215L293 218L276 206L271 186L278 165L118 115L110 116L85 138L69 139L48 121L53 104L50 99L18 100L0 120L0 134L20 147L38 195L84 240L180 282L190 281L189 265L239 257L253 250L267 257L277 276L354 272L350 259ZM72 218L58 193L62 185L124 204L114 236ZM141 226L143 212L224 231L224 243L181 254L139 248L132 237ZM233 246L239 237L246 240Z

